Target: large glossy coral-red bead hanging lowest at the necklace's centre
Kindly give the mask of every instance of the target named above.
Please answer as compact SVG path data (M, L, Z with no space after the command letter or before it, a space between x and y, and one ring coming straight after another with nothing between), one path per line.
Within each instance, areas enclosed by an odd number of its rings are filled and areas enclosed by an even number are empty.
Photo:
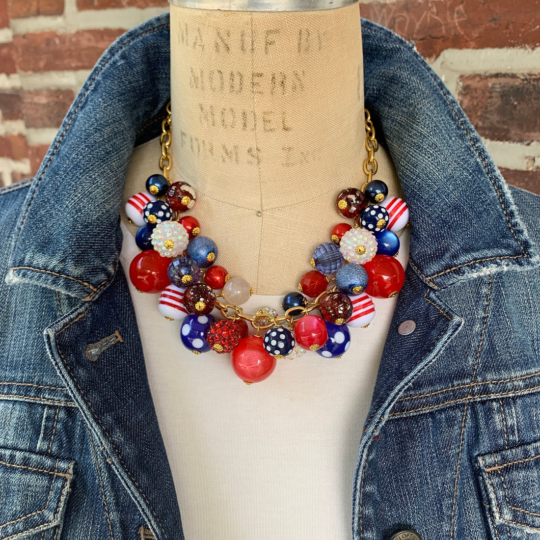
M232 350L231 363L242 381L260 382L272 374L277 361L266 352L262 338L248 336Z

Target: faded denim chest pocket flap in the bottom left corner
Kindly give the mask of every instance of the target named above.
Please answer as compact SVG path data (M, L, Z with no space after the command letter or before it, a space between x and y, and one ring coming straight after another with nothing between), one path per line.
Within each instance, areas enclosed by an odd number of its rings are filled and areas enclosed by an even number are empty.
M75 461L0 448L0 540L59 525Z

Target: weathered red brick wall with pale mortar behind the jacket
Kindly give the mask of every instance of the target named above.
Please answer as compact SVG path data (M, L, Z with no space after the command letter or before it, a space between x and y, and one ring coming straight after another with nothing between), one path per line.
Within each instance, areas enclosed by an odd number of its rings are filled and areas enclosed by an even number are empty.
M34 174L103 50L166 0L0 0L0 185ZM417 49L510 184L540 194L540 0L387 0L363 17Z

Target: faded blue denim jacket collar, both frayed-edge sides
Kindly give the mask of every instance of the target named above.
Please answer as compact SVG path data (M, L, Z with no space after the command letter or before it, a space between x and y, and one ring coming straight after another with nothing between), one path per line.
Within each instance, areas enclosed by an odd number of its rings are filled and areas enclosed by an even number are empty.
M415 49L362 21L365 98L410 208L410 265L433 289L540 258L500 172ZM120 37L71 106L22 209L9 282L91 300L112 281L133 147L170 99L168 15ZM336 190L341 186L336 186Z

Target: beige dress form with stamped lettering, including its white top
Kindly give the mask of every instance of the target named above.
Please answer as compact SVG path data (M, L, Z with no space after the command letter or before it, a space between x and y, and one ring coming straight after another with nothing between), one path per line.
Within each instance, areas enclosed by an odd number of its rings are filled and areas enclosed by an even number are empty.
M281 313L313 249L346 221L336 195L366 179L362 89L356 3L171 6L171 178L197 191L188 214L217 243L217 264L252 284L245 313ZM159 172L159 156L159 140L134 151L125 200ZM376 159L376 178L403 197L382 147ZM127 269L137 227L123 214L122 229ZM409 227L400 240L406 266ZM397 297L374 299L375 319L350 328L341 359L308 352L246 386L230 355L182 345L159 294L130 290L186 538L349 538L357 448Z

